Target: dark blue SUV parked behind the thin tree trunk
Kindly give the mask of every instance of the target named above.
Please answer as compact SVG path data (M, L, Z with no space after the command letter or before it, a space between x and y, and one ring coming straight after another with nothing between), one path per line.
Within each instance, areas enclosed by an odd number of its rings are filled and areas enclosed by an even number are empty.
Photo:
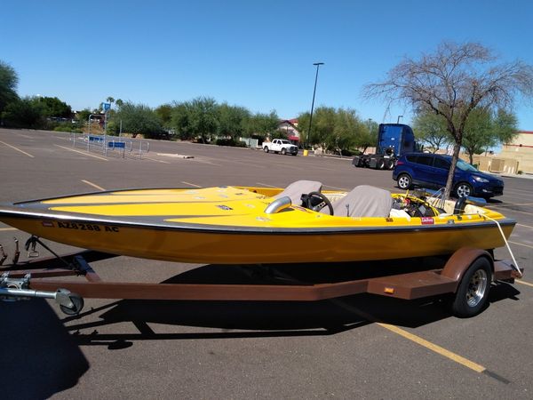
M444 188L448 180L451 156L410 153L401 156L394 167L393 179L404 190L413 186ZM458 159L453 179L453 195L490 198L504 194L504 181L478 171L473 165Z

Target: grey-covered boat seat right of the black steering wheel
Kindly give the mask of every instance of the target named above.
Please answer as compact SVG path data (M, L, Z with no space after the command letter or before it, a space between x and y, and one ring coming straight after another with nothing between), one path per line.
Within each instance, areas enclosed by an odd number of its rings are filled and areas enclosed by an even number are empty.
M386 218L393 208L393 197L388 190L361 185L332 205L333 215L338 217Z

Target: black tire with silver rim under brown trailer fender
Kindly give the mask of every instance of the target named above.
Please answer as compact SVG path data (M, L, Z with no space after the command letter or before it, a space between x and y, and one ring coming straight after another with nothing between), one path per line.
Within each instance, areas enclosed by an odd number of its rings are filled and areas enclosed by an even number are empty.
M490 261L486 257L473 261L451 302L451 311L455 316L475 316L485 308L489 300L491 276Z

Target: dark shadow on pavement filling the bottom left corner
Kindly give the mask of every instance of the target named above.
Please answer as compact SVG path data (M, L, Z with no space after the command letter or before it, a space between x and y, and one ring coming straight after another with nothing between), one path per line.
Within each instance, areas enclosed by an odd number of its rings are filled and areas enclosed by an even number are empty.
M76 386L89 363L45 300L0 301L3 399L49 398Z

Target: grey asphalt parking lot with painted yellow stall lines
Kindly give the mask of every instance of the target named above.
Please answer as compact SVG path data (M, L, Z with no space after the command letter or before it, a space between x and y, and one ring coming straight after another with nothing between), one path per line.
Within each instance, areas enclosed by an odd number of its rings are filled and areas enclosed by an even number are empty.
M0 176L0 203L300 179L399 190L391 172L355 169L348 159L164 141L150 141L141 159L122 158L73 148L60 132L5 129ZM505 195L489 207L517 220L510 245L525 275L494 286L479 316L371 295L316 303L89 299L80 316L48 300L0 302L3 398L531 398L533 180L504 180ZM28 238L0 224L10 255L14 236ZM505 249L496 255L508 258ZM123 282L225 272L127 257L92 267Z

